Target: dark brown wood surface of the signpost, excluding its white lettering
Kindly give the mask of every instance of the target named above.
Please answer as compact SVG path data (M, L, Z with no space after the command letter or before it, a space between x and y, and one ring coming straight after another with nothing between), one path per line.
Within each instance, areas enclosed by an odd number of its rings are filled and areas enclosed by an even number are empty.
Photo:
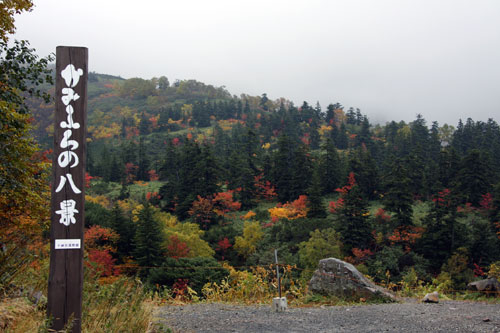
M73 64L82 69L79 82L72 87L80 97L71 101L73 107L72 119L80 124L79 128L63 128L61 122L67 122L67 105L62 101L63 89L68 88L61 72ZM51 199L51 229L50 229L50 273L48 288L47 312L52 318L52 329L61 330L65 325L72 325L72 332L81 331L82 287L83 287L83 228L84 228L84 200L85 200L85 156L86 156L86 123L87 123L87 76L88 76L88 49L84 47L58 46L56 51L56 93L55 93L55 123L54 123L54 154L52 163L52 199ZM74 81L73 81L74 82ZM71 84L70 84L71 86ZM70 140L78 143L78 148L62 148L64 132L71 130ZM62 144L64 146L64 143ZM64 151L71 150L78 156L78 165L61 167L58 158ZM72 161L74 162L74 161ZM66 181L62 190L56 192L61 184L61 176L66 178L70 174L74 185L81 193L74 193L69 181ZM63 201L76 202L78 213L74 214L75 223L64 225L61 223L61 203ZM80 249L55 249L57 239L80 239ZM72 322L68 321L72 319Z

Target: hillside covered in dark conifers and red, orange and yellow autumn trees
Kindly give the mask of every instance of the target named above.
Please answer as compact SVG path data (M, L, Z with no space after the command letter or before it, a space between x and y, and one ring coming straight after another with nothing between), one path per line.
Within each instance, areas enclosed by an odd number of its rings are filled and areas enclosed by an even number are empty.
M49 149L53 107L31 107ZM267 265L277 248L303 277L335 256L377 282L460 289L500 260L493 119L371 124L339 103L91 73L87 141L89 256L105 276L201 290L225 269L175 267Z

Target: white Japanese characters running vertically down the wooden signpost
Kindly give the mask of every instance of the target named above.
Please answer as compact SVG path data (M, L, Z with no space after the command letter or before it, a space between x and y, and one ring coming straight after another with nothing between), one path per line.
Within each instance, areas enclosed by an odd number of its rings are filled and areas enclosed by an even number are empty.
M57 157L57 166L64 169L63 175L60 176L59 184L57 185L55 192L59 193L61 191L72 191L75 194L80 194L82 191L75 185L73 181L73 176L71 175L71 169L77 167L80 163L78 154L75 152L80 144L71 139L73 135L73 130L80 128L80 124L74 122L73 114L75 109L73 108L72 102L78 100L80 96L73 90L79 81L80 77L83 75L83 70L81 68L75 68L72 64L66 66L64 70L61 71L61 76L64 79L66 87L62 89L61 101L66 107L66 121L61 121L59 127L65 129L63 133L63 138L59 147L63 151ZM78 110L76 110L78 112ZM67 192L65 192L67 193ZM65 199L59 203L59 210L55 213L60 215L59 223L69 227L71 224L76 223L75 215L79 213L76 207L76 201L73 199Z

